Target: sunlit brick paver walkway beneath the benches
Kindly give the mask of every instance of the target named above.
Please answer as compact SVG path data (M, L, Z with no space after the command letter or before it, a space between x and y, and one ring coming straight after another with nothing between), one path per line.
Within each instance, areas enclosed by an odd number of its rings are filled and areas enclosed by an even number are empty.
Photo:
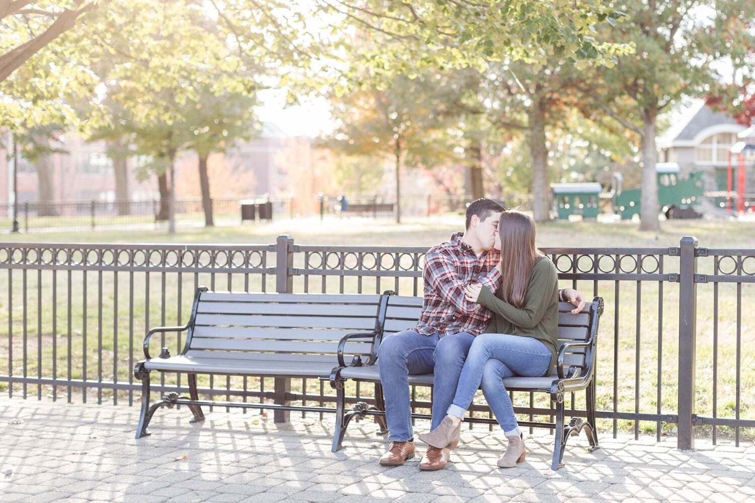
M552 437L536 432L527 461L500 470L501 434L477 426L464 432L453 466L421 472L418 458L377 465L385 441L371 421L353 425L334 454L332 418L276 425L272 414L215 409L190 425L187 409L162 409L152 436L134 440L138 412L0 398L0 501L755 501L749 444L698 440L697 451L679 452L674 439L602 435L602 448L587 454L582 437L553 472Z

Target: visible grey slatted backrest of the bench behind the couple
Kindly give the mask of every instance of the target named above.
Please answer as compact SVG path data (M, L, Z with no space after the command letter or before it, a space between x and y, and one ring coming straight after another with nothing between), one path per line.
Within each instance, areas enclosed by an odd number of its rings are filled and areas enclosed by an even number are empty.
M598 299L596 297L596 299ZM559 345L556 351L560 351L565 342L587 342L592 337L597 327L593 327L596 320L594 311L598 308L598 301L587 302L584 309L572 314L573 305L569 302L559 302ZM383 338L391 333L406 330L413 327L422 311L422 298L414 296L389 296L385 313ZM572 348L565 351L564 367L581 367L584 369L592 365L593 354L587 353L584 348ZM553 367L552 374L556 374Z

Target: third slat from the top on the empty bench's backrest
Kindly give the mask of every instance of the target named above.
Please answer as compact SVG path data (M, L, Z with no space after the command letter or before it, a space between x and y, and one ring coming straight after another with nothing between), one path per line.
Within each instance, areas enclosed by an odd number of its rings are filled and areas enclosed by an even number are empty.
M375 327L375 318L200 313L196 315L195 324L233 327L341 328L344 330L371 331Z

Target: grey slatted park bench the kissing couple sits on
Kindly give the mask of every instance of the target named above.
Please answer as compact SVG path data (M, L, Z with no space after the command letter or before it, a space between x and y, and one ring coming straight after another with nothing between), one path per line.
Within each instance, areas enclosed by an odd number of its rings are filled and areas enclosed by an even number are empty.
M392 292L391 292L392 293ZM390 294L390 293L389 293ZM383 330L375 336L372 347L377 351L381 340L390 333L396 333L414 327L419 318L422 308L421 297L395 296L387 297L387 309L384 314ZM569 437L578 436L584 429L587 440L590 443L590 452L598 448L598 439L595 429L595 354L598 332L599 317L603 311L603 300L595 297L593 302L587 304L583 311L572 314L574 306L569 302L559 302L559 346L558 359L553 366L550 375L544 377L507 377L504 385L509 391L531 391L550 394L556 422L525 422L520 421L520 426L552 428L555 430L555 445L553 448L553 462L551 468L557 470L563 466L562 459L564 449ZM371 363L370 362L374 362ZM380 374L378 373L379 361L375 354L368 358L368 364L356 362L354 365L334 369L329 376L331 386L336 390L336 426L333 437L333 452L341 447L347 426L351 419L362 419L367 415L379 417L379 424L385 428L385 406L382 390L379 386ZM375 404L368 405L365 402L356 403L352 410L345 411L344 384L347 380L356 382L374 382ZM410 375L409 385L433 385L433 374ZM575 391L584 391L586 394L586 416L583 420L579 417L572 418L569 425L564 420L564 396ZM380 395L380 396L377 396ZM414 418L430 419L424 414L412 414ZM470 422L482 422L497 424L491 419L470 418Z

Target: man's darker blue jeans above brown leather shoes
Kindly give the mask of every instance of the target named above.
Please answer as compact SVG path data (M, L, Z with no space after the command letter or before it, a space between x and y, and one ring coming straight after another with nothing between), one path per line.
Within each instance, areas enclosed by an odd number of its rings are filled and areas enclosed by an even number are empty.
M412 437L409 408L409 374L435 373L433 381L433 425L435 428L451 406L464 358L474 340L469 333L438 337L414 330L396 332L383 339L378 350L378 368L385 397L388 439Z

